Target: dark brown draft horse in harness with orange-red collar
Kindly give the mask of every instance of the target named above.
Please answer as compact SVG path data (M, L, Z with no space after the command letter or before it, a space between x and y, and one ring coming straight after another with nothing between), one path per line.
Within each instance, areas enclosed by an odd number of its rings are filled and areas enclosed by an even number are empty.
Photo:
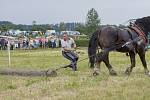
M99 74L99 66L103 61L110 75L117 75L116 71L109 63L109 52L116 50L118 52L129 53L131 66L126 69L126 74L129 75L133 67L135 67L135 55L137 53L144 66L145 74L149 75L145 60L145 47L147 44L148 32L150 32L150 16L136 19L127 29L109 25L94 32L88 47L90 67L94 68L93 74ZM97 53L98 48L101 49L100 53Z

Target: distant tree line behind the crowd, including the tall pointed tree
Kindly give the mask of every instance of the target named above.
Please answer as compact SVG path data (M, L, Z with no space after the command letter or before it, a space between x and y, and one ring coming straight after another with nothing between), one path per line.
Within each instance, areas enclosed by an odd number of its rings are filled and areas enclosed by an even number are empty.
M6 32L10 29L21 30L21 31L41 31L56 30L60 31L79 31L81 34L86 34L89 37L91 34L100 28L101 19L94 8L91 8L87 15L84 23L64 23L59 24L37 24L36 21L32 22L32 25L14 24L9 21L0 21L0 31Z

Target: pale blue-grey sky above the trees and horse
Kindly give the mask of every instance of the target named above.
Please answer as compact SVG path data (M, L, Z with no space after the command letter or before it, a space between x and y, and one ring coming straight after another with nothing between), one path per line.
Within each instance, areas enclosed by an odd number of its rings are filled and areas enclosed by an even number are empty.
M0 20L15 24L85 22L95 8L102 24L150 16L150 0L0 0Z

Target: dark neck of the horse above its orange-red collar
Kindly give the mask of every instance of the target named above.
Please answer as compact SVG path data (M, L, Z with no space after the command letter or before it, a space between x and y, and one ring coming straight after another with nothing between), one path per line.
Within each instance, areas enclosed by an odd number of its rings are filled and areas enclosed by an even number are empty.
M141 27L143 31L145 32L145 35L150 32L150 16L139 18L135 21L135 24Z

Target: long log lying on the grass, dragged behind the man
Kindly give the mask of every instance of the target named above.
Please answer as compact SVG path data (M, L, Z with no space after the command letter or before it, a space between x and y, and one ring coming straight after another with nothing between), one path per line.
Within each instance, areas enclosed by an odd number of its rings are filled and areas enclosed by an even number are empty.
M1 75L11 75L11 76L57 76L56 71L54 70L24 70L24 69L1 69L0 70Z

